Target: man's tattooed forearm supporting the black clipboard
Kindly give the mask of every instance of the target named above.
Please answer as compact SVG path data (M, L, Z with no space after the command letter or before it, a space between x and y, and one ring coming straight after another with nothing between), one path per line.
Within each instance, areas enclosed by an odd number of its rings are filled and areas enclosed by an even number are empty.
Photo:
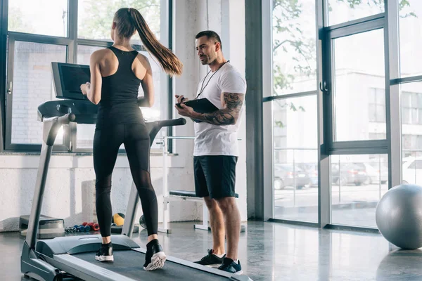
M243 93L222 93L223 109L200 114L194 119L219 126L236 124L244 98Z

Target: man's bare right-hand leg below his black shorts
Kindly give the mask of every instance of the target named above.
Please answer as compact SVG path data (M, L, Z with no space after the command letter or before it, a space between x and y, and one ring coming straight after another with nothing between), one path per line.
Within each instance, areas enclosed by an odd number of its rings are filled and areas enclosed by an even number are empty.
M238 244L241 233L241 214L236 204L235 197L223 197L216 200L224 217L226 228L227 255L226 258L237 261Z

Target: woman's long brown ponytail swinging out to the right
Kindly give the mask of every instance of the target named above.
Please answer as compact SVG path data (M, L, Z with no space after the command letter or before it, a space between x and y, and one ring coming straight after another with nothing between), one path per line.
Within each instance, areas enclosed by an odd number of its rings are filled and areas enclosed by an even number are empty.
M158 59L162 69L170 75L180 75L183 69L183 64L169 48L163 46L160 41L155 38L151 32L146 21L143 19L141 13L134 8L129 8L129 13L132 18L135 29L141 37L143 46Z

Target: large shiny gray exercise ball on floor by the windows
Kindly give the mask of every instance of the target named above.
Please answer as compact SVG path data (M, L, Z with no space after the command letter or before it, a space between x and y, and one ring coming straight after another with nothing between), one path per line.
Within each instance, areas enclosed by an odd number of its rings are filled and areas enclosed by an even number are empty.
M422 187L404 184L388 190L376 207L376 225L399 248L422 247Z

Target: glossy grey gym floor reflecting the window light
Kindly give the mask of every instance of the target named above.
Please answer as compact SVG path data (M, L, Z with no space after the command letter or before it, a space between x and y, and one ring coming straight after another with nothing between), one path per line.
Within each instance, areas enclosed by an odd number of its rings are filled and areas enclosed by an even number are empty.
M167 255L193 261L212 245L193 223L170 226L159 235ZM146 230L134 240L144 247ZM0 280L21 280L22 244L18 233L0 233ZM250 221L239 256L252 280L422 280L422 251L391 247L379 234Z

